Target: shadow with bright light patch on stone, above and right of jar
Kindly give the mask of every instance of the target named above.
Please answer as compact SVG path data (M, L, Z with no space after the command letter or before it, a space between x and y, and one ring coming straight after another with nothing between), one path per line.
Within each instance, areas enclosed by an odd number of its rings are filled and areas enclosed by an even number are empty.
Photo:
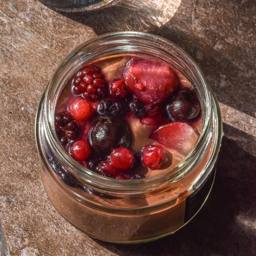
M164 5L154 6L145 0L138 2L137 6L132 3L132 0L121 0L92 11L59 12L93 28L97 35L137 30L151 32L175 42L196 59L220 102L254 116L256 94L250 93L255 90L251 82L255 78L252 72L252 46L248 47L248 52L247 48L236 44L240 37L246 37L250 31L247 24L244 31L238 35L232 30L241 22L235 18L237 15L252 18L253 12L248 11L252 6L251 1L248 1L244 8L238 9L237 4L231 5L228 0L222 1L221 5L218 1L193 4L183 0L170 6L169 13ZM168 2L170 3L172 1ZM226 8L229 8L230 15L234 16L232 24L221 22L221 11L212 13L214 9L224 11ZM161 17L161 21L157 17ZM228 38L232 38L232 44L227 42Z

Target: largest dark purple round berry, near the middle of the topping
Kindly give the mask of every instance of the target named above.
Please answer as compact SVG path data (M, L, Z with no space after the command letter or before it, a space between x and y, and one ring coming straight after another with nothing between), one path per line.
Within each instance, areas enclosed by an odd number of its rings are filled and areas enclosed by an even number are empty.
M128 147L131 133L122 119L115 116L100 117L92 126L89 141L95 151L108 153L116 147Z

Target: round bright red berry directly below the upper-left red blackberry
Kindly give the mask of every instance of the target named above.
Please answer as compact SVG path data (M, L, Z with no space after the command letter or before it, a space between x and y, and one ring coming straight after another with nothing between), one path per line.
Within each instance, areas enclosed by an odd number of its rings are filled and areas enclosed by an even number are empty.
M84 121L87 120L91 114L92 109L86 99L76 98L69 105L71 115L75 120Z

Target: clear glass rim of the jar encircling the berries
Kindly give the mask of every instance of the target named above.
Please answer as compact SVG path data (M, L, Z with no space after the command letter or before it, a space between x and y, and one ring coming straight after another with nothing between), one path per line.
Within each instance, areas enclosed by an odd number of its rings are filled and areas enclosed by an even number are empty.
M204 94L206 96L206 111L204 115L203 120L203 127L202 132L199 136L199 139L197 141L197 144L193 148L193 150L182 160L180 161L176 166L173 168L170 168L169 170L166 170L164 173L159 174L157 176L148 177L146 179L141 180L117 180L112 179L109 177L104 177L99 174L94 173L92 170L82 166L78 162L76 162L61 146L55 132L54 128L54 110L52 110L52 104L50 93L51 93L51 87L54 86L55 81L58 78L58 75L65 70L65 67L68 62L70 62L72 59L74 59L75 56L80 54L81 52L86 51L87 49L92 48L94 44L97 44L100 42L99 45L110 45L111 42L117 41L117 40L128 40L128 39L137 39L140 40L143 38L143 40L147 40L148 42L154 42L158 47L164 47L167 50L171 50L179 57L182 57L185 59L186 63L188 63L191 67L194 68L194 70L197 72L197 76L199 81L203 85ZM105 40L108 40L104 42ZM112 41L111 41L112 40ZM129 44L129 42L128 42ZM170 54L170 53L169 53ZM90 54L88 54L90 56ZM139 191L144 190L148 188L155 187L158 184L164 183L164 182L175 182L182 177L184 177L187 173L189 173L190 169L192 169L193 166L196 165L198 158L200 155L202 155L205 147L205 141L207 139L209 130L210 130L210 124L211 124L211 118L212 118L212 106L215 105L218 111L218 102L215 98L214 93L208 86L204 75L200 68L197 66L196 62L191 58L185 51L183 51L180 47L178 47L173 42L149 33L143 33L143 32L136 32L136 31L122 31L122 32L114 32L114 33L108 33L101 36L97 36L87 42L84 42L82 45L78 46L76 49L74 49L58 66L57 70L55 71L54 75L50 79L47 89L45 91L45 100L42 102L44 104L44 112L45 112L45 130L48 133L48 139L50 141L50 144L53 147L53 150L57 155L59 155L63 162L68 166L70 170L72 170L72 173L82 179L87 184L90 184L92 186L95 186L97 188L111 188L111 191ZM212 101L213 99L213 101ZM220 112L217 113L218 118L220 119ZM219 123L221 123L221 119L219 120ZM219 125L220 126L220 125ZM218 143L216 146L215 151L219 151L220 147L220 132L222 133L222 130L219 130L218 133ZM217 158L217 154L216 158ZM216 159L215 159L216 160ZM214 161L215 162L215 161Z

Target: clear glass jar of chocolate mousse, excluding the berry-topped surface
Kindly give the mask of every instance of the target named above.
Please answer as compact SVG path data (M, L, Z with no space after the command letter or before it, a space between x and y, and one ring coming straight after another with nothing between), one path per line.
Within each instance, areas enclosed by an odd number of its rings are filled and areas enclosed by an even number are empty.
M141 180L100 176L62 148L54 110L66 82L94 60L122 54L157 57L185 75L201 102L202 132L194 150L166 172ZM36 144L47 194L60 214L89 236L139 243L174 233L206 201L222 138L218 101L191 57L162 37L139 32L105 34L71 52L55 71L38 106Z

